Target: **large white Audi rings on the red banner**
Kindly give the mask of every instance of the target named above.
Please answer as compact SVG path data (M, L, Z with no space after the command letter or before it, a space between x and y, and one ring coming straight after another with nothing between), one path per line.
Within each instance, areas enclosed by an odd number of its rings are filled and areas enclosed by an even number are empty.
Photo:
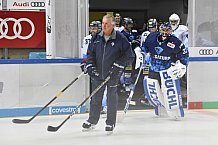
M14 22L13 23L13 35L9 35L8 31L9 31L9 22ZM21 35L22 30L24 29L23 26L21 25L21 22L26 22L29 23L31 29L30 32L28 34L25 34L24 36ZM19 19L15 19L15 18L6 18L6 19L2 19L0 18L0 39L2 38L6 38L6 39L29 39L33 36L35 32L35 26L33 24L33 22L28 19L28 18L19 18Z

